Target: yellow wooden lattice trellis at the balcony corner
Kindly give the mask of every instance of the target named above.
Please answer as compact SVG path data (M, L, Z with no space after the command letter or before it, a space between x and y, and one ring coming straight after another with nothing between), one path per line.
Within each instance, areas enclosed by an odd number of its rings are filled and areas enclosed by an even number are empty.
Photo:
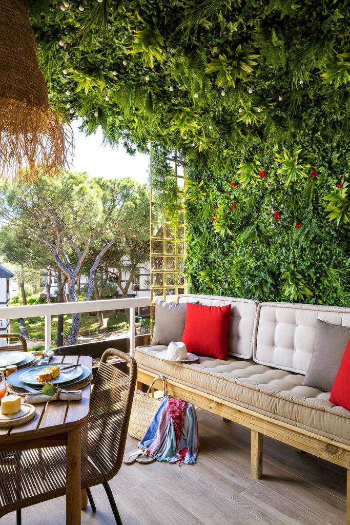
M174 164L174 177L179 187L179 195L185 191L184 176L179 174L178 165ZM185 220L184 206L178 206L178 223L175 231L170 230L165 213L162 220L154 213L154 200L150 188L150 289L151 289L151 334L154 325L155 299L166 300L169 296L177 297L187 291L187 280L183 275L185 257Z

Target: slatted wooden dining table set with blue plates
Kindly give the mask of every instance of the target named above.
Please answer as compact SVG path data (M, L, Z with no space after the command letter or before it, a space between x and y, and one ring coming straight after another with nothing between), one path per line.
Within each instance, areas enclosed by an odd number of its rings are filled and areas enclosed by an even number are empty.
M85 355L54 356L50 364L80 363L92 370ZM54 401L35 405L33 419L23 425L0 428L0 452L66 446L67 525L81 525L81 427L89 417L91 385L82 389L81 401Z

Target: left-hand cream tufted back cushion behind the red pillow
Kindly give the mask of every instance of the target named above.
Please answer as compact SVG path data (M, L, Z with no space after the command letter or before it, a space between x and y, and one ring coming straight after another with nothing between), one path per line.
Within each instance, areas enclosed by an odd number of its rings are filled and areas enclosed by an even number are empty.
M232 297L181 295L179 302L199 301L205 306L232 304L228 325L227 354L251 359L253 356L253 333L257 302Z

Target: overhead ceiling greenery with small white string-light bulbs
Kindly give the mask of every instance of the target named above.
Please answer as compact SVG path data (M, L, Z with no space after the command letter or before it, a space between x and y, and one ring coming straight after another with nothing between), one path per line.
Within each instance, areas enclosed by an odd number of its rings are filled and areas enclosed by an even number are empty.
M145 149L222 166L285 145L318 107L328 142L350 137L349 2L28 0L50 102Z

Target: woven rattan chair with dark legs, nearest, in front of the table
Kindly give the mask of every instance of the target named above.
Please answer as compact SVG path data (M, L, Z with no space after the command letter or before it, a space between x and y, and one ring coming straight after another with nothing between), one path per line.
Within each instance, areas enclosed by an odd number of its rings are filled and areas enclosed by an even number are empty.
M129 375L108 363L110 356L126 361ZM90 416L82 428L81 488L96 511L90 487L102 484L118 525L122 520L108 481L122 466L136 377L132 357L106 350L92 389ZM64 494L65 447L0 453L0 517L16 510L20 525L20 509Z

